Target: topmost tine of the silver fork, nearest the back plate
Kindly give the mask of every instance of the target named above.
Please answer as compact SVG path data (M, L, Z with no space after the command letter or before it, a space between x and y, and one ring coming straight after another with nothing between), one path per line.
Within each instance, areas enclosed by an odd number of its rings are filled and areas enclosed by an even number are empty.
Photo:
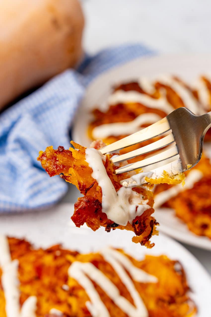
M165 118L159 120L156 123L153 123L151 126L147 126L145 129L142 129L138 132L135 132L121 140L118 140L114 143L111 143L99 151L102 154L106 154L109 152L119 151L127 146L131 146L143 141L147 141L149 139L155 138L167 131L171 130L168 120Z

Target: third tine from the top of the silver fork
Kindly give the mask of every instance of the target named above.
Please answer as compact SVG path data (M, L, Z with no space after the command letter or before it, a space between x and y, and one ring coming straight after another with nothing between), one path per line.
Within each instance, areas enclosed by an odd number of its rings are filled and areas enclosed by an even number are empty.
M171 158L173 158L172 160L175 160L176 158L174 157L176 155L178 155L178 149L177 149L177 146L173 146L170 149L165 150L159 154L153 155L152 157L149 157L147 159L143 159L141 161L122 166L118 168L117 170L115 170L114 173L115 174L126 173L129 171L136 170L138 168L144 168L146 166L147 167L149 166L149 168L152 169L153 168L152 166L159 162L163 162Z

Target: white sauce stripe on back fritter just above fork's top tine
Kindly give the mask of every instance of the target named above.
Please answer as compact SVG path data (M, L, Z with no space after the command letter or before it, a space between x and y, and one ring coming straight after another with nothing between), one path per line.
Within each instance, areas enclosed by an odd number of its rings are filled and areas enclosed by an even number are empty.
M160 119L162 118L156 113L143 113L129 122L115 122L96 126L92 130L92 136L94 139L105 139L110 135L129 135L140 131L140 126L142 126L143 124L152 124Z

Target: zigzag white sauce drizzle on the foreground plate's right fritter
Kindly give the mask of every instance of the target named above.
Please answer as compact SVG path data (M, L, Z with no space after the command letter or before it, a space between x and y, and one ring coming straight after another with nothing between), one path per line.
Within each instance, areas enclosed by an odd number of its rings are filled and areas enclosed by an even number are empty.
M135 267L133 263L120 252L113 249L105 249L100 252L105 261L109 262L119 275L122 283L126 286L134 301L132 305L126 298L120 295L119 289L109 278L97 269L92 263L73 262L68 269L69 276L73 277L85 289L90 298L86 306L93 317L109 317L109 312L97 293L92 281L96 282L112 301L129 317L148 317L147 309L136 290L133 281L127 274L139 282L156 283L155 276L149 275Z

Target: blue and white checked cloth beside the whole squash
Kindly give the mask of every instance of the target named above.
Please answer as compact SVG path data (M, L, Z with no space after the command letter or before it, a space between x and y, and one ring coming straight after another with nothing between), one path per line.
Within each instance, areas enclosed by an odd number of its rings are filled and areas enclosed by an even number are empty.
M70 147L69 129L86 86L97 75L153 52L142 45L105 49L86 56L77 70L66 70L0 115L0 212L44 208L67 191L50 178L37 156L47 146Z

